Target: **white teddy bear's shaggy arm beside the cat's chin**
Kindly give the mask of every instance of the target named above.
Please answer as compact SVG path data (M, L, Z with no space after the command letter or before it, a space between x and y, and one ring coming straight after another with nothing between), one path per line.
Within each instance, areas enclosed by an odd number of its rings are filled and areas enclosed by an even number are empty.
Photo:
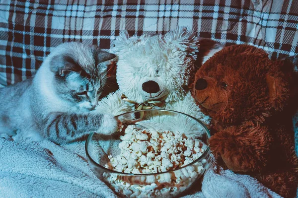
M135 105L121 99L121 96L122 92L120 90L108 94L98 102L95 111L102 114L111 114L113 116L134 111Z

